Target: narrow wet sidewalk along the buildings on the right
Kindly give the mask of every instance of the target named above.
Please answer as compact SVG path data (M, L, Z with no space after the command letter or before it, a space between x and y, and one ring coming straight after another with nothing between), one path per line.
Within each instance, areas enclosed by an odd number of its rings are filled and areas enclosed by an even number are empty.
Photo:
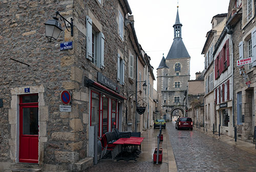
M219 133L218 132L215 132L215 134L212 133L212 131L203 131L203 127L201 127L201 130L197 127L193 127L194 130L197 130L197 131L200 131L210 137L214 137L224 143L227 143L227 144L230 144L232 146L236 146L242 150L244 150L245 152L248 152L250 154L253 154L253 155L256 155L256 149L255 149L255 144L252 144L252 143L249 143L249 142L246 142L246 141L242 141L242 140L239 140L237 139L237 142L234 141L234 138L232 137L229 137L229 136L226 136L226 135L221 135L219 136Z

